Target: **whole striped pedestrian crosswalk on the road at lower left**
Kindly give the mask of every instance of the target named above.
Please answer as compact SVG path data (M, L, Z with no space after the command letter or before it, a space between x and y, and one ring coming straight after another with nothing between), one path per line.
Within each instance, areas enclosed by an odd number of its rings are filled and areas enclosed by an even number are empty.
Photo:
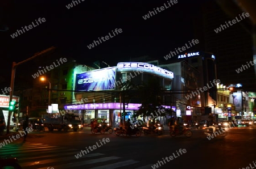
M64 168L77 168L94 164L91 169L112 169L131 164L139 163L137 160L120 160L121 157L102 157L102 153L88 153L85 155L81 154L81 157L76 158L75 155L80 154L81 151L77 149L67 149L65 147L46 145L43 143L24 143L24 144L12 144L6 145L4 149L0 148L1 155L13 155L18 157L20 166L24 168L37 168L46 169L64 169ZM25 155L24 155L25 154ZM89 159L86 159L89 158ZM77 160L76 160L77 159ZM119 160L117 160L119 159ZM105 162L102 164L102 162ZM100 163L102 166L97 165ZM109 164L108 164L109 163ZM153 164L147 164L136 169L151 168ZM88 168L88 167L86 167Z

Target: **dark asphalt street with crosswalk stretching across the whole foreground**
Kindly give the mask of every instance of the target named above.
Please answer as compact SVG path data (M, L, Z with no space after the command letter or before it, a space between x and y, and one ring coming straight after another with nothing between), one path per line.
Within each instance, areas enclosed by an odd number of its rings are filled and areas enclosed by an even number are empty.
M242 168L256 160L255 130L229 128L210 140L202 130L192 130L191 138L172 138L167 130L139 138L85 130L33 132L26 142L11 142L0 152L18 157L22 168Z

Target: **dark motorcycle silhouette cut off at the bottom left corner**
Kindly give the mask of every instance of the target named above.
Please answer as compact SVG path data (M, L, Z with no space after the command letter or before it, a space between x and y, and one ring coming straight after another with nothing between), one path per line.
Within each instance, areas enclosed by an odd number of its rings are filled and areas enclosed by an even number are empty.
M18 158L15 157L0 157L0 168L21 169L18 164Z

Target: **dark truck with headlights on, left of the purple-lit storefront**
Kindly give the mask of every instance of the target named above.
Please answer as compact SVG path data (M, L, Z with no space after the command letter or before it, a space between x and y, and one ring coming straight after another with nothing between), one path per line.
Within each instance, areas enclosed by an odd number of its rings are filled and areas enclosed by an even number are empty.
M77 132L79 129L83 129L81 120L79 116L74 115L73 113L65 113L64 115L45 115L44 116L44 126L48 128L49 131L57 129L58 131L64 130L73 130Z

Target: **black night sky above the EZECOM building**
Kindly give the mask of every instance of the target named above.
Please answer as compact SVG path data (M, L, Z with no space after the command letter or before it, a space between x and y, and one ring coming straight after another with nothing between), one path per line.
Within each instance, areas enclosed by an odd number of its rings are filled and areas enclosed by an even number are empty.
M207 0L178 0L175 5L144 20L142 16L167 1L82 1L71 9L67 0L0 2L0 87L10 85L11 63L20 62L51 46L82 64L102 60L110 66L133 57L149 55L160 60L170 50L182 47L194 36L193 19L198 18L202 2ZM167 5L168 6L168 5ZM14 39L17 29L39 24ZM34 22L35 23L35 22ZM106 36L115 28L122 33L88 49L87 45ZM30 66L20 65L17 76L26 72L31 78ZM26 70L26 71L24 71ZM23 74L24 75L24 74ZM26 74L24 75L26 76Z

